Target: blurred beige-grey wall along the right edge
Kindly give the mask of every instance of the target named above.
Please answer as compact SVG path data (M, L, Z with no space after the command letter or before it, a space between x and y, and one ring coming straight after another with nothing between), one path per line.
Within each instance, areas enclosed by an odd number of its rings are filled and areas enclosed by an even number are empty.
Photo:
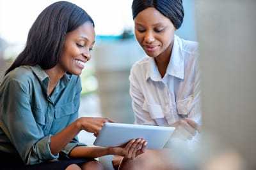
M204 125L256 168L256 1L196 1Z

